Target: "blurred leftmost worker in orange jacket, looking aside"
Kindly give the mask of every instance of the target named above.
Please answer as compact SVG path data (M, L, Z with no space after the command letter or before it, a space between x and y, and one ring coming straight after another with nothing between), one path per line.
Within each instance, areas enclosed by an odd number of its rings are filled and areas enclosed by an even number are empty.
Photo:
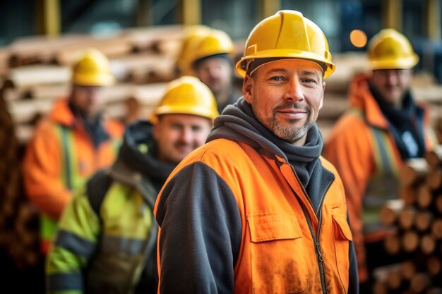
M106 56L96 49L86 51L73 66L71 94L56 101L28 144L24 183L28 197L42 213L44 254L72 191L116 158L124 128L102 116L100 97L100 89L113 82Z

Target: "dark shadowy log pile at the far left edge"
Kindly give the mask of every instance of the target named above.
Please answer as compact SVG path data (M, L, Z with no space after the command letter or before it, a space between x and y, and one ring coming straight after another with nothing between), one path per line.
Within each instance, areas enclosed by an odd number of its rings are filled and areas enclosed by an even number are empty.
M37 210L23 192L21 150L1 91L0 154L0 247L8 252L18 269L33 267L41 258Z

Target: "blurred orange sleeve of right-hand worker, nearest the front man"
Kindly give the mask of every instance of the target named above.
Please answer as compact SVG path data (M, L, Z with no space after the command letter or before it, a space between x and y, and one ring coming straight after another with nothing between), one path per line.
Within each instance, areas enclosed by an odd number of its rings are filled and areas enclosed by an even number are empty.
M372 143L367 132L362 120L347 116L335 126L323 154L338 170L345 188L361 282L368 279L362 222L364 191L374 172Z

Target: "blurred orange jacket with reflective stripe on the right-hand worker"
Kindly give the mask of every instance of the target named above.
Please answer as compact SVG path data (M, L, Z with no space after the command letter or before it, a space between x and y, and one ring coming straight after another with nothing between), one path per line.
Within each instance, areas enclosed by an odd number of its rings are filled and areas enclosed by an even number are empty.
M385 228L376 231L367 226L369 220L379 223L378 209L371 209L369 212L369 208L364 206L377 202L376 207L381 207L382 201L385 203L392 197L398 197L398 171L402 159L388 129L388 121L371 94L366 75L354 77L349 95L350 110L335 124L325 144L323 156L333 163L344 183L357 253L359 280L366 281L368 273L364 240L382 240L388 231ZM429 122L426 112L423 122L426 128L419 132L424 132L428 149L432 146L432 138L431 130L427 129ZM395 188L393 193L387 189L392 185ZM378 191L369 192L373 186L377 186ZM379 192L382 188L385 188L385 195ZM378 195L374 195L376 192ZM370 202L367 195L374 196L377 200Z

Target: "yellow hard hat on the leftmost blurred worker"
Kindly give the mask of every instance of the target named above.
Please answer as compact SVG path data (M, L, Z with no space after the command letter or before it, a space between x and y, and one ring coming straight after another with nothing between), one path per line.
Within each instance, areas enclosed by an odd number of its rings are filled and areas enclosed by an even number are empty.
M114 83L109 61L97 49L88 49L74 64L72 82L82 86L107 86Z

